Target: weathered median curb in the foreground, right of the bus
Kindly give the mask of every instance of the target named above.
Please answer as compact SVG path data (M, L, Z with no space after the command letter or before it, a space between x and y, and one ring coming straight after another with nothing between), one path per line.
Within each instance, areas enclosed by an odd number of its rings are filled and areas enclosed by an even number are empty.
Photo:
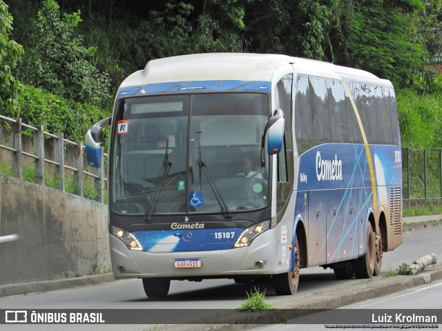
M235 312L222 317L209 317L203 323L164 325L167 331L233 331L245 330L262 324L284 323L298 317L315 314L318 310L342 308L346 305L401 292L419 285L442 280L442 265L427 267L414 276L395 276L374 279L371 283L358 283L320 294L310 294L284 303L273 305L276 312ZM278 310L280 310L278 312ZM311 310L311 312L309 312ZM210 325L208 323L210 321Z

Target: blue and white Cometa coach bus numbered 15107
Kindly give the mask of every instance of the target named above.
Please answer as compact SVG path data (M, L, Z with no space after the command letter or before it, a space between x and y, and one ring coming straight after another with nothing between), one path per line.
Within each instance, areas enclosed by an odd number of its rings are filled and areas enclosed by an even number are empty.
M86 134L100 166L111 125L108 214L116 279L148 297L171 280L339 279L381 271L402 237L401 140L392 83L278 54L149 61Z

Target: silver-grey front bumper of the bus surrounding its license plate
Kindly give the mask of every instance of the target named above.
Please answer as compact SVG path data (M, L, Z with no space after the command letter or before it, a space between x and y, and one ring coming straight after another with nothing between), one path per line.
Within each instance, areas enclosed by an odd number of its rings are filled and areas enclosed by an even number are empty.
M115 279L166 277L170 279L231 278L276 274L273 231L267 231L244 248L200 252L136 252L111 235L111 260ZM176 268L176 260L199 260L198 268ZM287 267L286 267L287 268ZM286 270L287 271L287 270Z

